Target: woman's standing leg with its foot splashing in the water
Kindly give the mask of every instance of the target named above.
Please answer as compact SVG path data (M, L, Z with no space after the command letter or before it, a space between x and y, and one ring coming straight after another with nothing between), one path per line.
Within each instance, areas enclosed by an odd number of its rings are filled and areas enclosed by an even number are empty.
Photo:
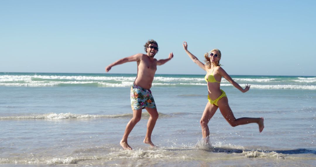
M207 102L204 112L202 114L202 118L200 120L200 124L202 127L202 136L203 138L206 138L210 136L210 130L209 126L207 125L210 121L210 119L213 117L217 110L218 106L211 104L210 102Z

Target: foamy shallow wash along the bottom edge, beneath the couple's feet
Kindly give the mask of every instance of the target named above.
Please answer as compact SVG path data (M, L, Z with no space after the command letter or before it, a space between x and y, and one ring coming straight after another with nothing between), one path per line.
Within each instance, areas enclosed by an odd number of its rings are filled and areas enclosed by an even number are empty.
M84 151L83 151L84 152ZM30 165L30 164L46 164L46 165L58 165L58 164L75 164L76 166L100 166L103 164L105 166L111 166L111 162L118 162L117 166L148 166L149 164L159 164L174 166L179 165L179 162L184 164L188 164L190 161L198 161L204 163L212 163L214 161L221 160L221 163L225 163L225 161L234 159L242 159L247 160L248 158L266 158L266 159L286 159L288 155L283 155L282 153L276 152L263 152L260 150L252 150L252 151L243 151L240 153L241 156L234 155L225 155L221 154L212 154L210 152L201 152L196 154L196 149L190 148L157 148L153 150L121 150L121 149L106 149L104 150L106 153L98 154L95 153L93 155L80 155L73 154L71 152L67 152L66 155L40 155L40 156L31 156L26 157L22 156L19 158L0 158L0 164L15 164L15 165ZM31 153L32 155L32 153ZM313 158L295 158L295 159L303 159L303 160L313 160ZM123 160L123 162L122 162ZM128 163L126 163L126 162ZM184 162L186 161L186 162ZM110 164L107 164L110 162ZM269 161L267 161L269 162ZM204 164L203 163L203 164ZM169 165L168 165L169 164ZM170 165L171 164L171 165ZM103 166L102 165L102 166ZM151 166L151 165L149 165Z

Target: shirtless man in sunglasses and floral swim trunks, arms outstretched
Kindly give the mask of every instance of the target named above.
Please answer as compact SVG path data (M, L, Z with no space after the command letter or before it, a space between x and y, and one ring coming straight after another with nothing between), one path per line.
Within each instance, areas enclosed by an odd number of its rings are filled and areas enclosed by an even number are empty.
M137 53L130 57L119 59L116 62L108 65L105 71L108 72L114 65L120 65L126 62L137 62L137 77L131 87L131 107L133 110L133 118L127 123L125 132L120 145L125 150L131 150L131 146L127 144L128 135L131 133L134 126L140 121L142 116L142 109L146 108L150 117L147 123L147 132L144 139L144 143L154 147L155 145L151 141L151 133L155 127L158 119L158 112L154 97L149 90L154 80L157 65L163 65L167 61L173 58L173 53L169 53L168 59L154 59L156 53L158 53L158 44L155 40L148 40L144 45L144 50L147 54Z

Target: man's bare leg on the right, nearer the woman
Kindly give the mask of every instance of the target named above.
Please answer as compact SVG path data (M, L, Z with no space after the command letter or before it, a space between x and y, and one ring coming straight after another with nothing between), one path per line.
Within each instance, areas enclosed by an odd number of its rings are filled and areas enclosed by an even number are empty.
M156 121L158 119L158 112L157 108L146 107L146 110L148 111L150 117L147 123L147 132L144 139L144 143L149 144L152 147L155 147L155 145L151 141L151 133L153 132Z

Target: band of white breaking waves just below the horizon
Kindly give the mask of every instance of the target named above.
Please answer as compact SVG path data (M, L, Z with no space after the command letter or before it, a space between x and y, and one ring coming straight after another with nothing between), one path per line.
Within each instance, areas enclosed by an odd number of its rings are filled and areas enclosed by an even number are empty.
M313 83L316 77L280 78L234 78L241 86L251 84L254 89L305 89L316 90ZM0 75L0 86L50 87L50 86L97 86L97 87L130 87L135 77L103 76L46 76L46 75ZM261 84L262 83L262 84ZM284 84L283 84L284 83ZM302 85L300 85L302 84ZM308 85L306 85L308 84ZM204 78L189 77L155 77L153 86L205 86ZM221 86L232 86L222 78Z

